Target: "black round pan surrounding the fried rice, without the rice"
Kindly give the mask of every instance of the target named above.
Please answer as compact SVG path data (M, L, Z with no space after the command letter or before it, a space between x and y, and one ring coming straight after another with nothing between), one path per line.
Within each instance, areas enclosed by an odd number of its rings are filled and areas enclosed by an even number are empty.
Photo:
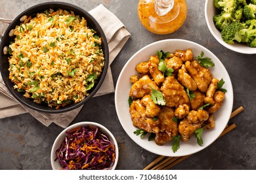
M28 98L24 97L23 96L24 93L20 93L17 90L14 90L14 88L13 88L14 84L9 79L9 71L8 71L8 69L9 69L9 61L8 61L9 54L7 54L7 55L3 54L3 48L5 46L9 46L10 41L14 41L15 36L9 37L9 32L12 29L14 29L16 25L20 25L20 18L24 15L34 17L37 13L44 12L45 10L49 10L49 8L52 8L53 10L57 10L58 8L61 8L62 10L68 10L69 12L73 11L75 15L84 17L87 20L87 25L89 26L89 28L94 29L97 32L98 36L102 37L102 51L104 53L104 59L105 59L105 65L104 65L104 68L100 75L100 78L98 78L94 88L89 90L89 96L85 97L85 99L83 99L83 101L80 101L79 103L71 103L70 105L66 105L65 107L61 107L58 109L56 109L54 107L48 107L47 105L43 105L43 104L37 104L37 103L33 102L32 99L28 99ZM37 110L39 112L45 112L45 113L67 112L67 111L73 110L77 107L80 107L81 105L83 105L84 103L89 101L89 99L91 99L91 97L93 97L93 95L95 95L95 93L98 91L98 89L100 88L100 86L106 76L106 72L108 69L108 58L109 58L108 42L106 40L106 37L104 35L102 28L100 27L98 22L96 22L95 18L93 18L93 16L91 16L91 14L89 14L87 11L83 10L82 8L76 7L75 5L71 5L68 3L63 3L63 2L41 3L41 4L38 4L33 7L28 8L27 10L22 12L20 15L18 15L16 18L14 18L14 20L11 22L9 27L7 27L7 30L5 31L5 34L3 35L2 39L1 39L0 70L1 70L1 75L3 77L3 81L5 82L5 85L7 86L9 92L11 92L11 94L20 103L24 104L26 107L30 107L33 110Z

